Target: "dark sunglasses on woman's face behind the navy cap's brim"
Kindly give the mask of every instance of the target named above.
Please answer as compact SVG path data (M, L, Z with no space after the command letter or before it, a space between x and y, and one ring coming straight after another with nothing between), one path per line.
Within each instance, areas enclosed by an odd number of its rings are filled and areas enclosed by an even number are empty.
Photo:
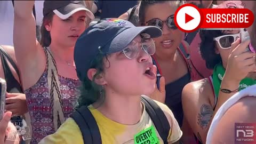
M164 26L164 22L166 23L167 27L169 27L170 29L177 29L177 27L175 26L175 23L174 23L174 15L171 15L170 17L168 17L166 19L166 21L162 21L160 19L151 19L151 20L147 21L146 24L148 26L156 26L156 27L162 29Z

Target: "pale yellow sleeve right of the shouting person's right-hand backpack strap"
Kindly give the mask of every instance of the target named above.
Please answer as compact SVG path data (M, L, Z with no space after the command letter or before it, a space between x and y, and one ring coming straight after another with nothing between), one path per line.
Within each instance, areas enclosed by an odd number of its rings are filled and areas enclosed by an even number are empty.
M161 103L158 101L155 101L155 102L164 111L164 114L165 114L166 118L168 119L168 122L171 127L167 141L171 142L171 143L177 142L182 137L182 131L180 130L180 126L179 126L177 120L175 119L171 109L169 107L167 107L164 103Z

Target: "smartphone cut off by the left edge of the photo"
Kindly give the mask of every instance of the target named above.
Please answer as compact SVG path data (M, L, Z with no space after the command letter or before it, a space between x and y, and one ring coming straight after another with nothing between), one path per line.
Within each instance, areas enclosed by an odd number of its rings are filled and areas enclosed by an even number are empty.
M6 94L6 81L3 78L0 78L0 121L3 119L4 110L5 110L5 94Z

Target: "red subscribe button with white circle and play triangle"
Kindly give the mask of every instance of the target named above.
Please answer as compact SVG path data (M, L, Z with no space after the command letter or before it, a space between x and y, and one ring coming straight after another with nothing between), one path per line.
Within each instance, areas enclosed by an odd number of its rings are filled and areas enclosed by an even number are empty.
M175 25L187 33L198 28L247 28L253 21L249 9L199 9L193 4L180 6L174 14Z

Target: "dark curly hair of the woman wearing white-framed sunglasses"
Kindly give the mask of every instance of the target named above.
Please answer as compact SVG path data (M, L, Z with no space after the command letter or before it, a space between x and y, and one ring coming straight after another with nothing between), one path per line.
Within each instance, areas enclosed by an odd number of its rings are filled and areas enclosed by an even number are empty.
M216 53L216 42L213 41L214 37L225 35L223 30L199 30L201 38L200 52L202 58L206 62L206 67L213 69L215 65L222 62L220 54Z

